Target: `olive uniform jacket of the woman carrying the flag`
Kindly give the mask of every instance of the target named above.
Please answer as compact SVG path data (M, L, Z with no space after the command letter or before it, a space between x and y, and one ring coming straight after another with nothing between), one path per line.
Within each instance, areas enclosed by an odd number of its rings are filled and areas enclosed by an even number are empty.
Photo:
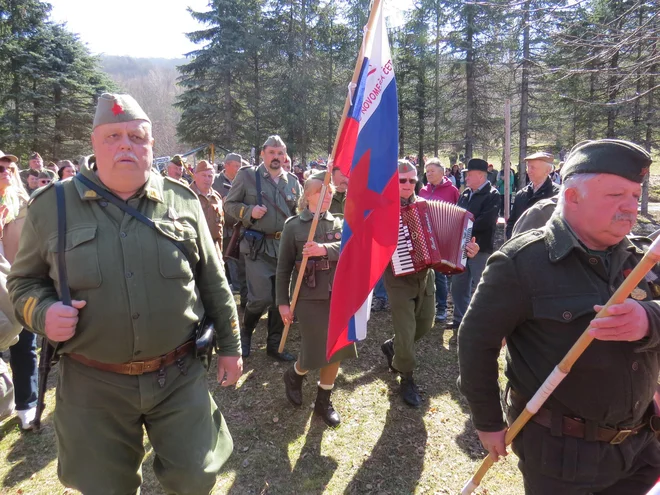
M305 209L300 215L289 218L284 225L275 278L275 300L278 306L289 304L289 284L295 285L296 283L298 277L298 270L295 268L296 261L301 261L303 258L302 250L307 242L313 218L314 214L309 209ZM318 301L330 299L332 281L337 268L336 262L339 259L343 224L342 215L333 215L329 211L325 212L319 219L314 241L325 246L328 254L323 258L310 258L308 263L327 259L330 262L330 269L315 271L316 286L314 288L308 287L303 282L298 295L299 300ZM292 274L293 278L291 277Z

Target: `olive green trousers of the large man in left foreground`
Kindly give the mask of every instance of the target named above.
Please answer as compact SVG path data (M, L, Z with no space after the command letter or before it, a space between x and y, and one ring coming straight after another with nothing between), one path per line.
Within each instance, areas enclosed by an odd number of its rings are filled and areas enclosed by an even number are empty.
M156 477L168 494L208 495L233 449L209 394L206 370L188 356L139 376L97 370L63 356L54 412L58 476L84 495L139 493L143 428Z

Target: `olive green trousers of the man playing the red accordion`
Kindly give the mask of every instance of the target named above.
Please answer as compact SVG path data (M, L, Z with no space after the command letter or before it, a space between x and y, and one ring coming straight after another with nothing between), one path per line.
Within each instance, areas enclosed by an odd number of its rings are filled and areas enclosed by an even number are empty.
M395 277L388 267L383 276L394 326L392 366L401 373L408 373L416 365L415 342L433 327L435 275L433 270L423 270Z

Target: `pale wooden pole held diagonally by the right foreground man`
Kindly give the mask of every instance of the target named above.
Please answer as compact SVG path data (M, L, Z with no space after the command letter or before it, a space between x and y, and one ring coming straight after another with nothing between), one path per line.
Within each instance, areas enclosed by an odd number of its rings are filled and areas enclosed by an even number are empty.
M607 309L613 304L623 303L630 293L637 287L637 284L642 281L646 274L651 271L656 263L660 261L660 238L653 241L653 244L649 247L649 250L637 264L635 269L626 277L621 286L617 291L612 294L610 300L607 301L605 306L598 312L596 318L602 318L606 316ZM555 367L555 369L550 373L550 376L545 379L541 388L536 391L534 397L525 406L523 412L518 416L518 418L513 422L509 427L504 436L505 445L510 445L514 438L520 433L520 430L527 424L527 422L534 416L539 409L543 406L545 401L550 397L552 392L557 388L561 381L566 378L570 373L575 361L582 355L582 353L589 347L589 344L594 340L594 338L589 335L589 330L591 330L591 325L582 333L580 338L573 344L573 347L568 351L568 354L564 356L564 359ZM488 454L477 472L472 476L472 478L467 482L461 495L469 495L479 486L484 475L490 469L494 463L493 457Z

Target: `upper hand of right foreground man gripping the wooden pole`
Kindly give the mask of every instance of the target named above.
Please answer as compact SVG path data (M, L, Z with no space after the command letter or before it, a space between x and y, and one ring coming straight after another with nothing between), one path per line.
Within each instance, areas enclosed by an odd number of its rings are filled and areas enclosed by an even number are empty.
M594 306L596 312L603 306ZM607 308L607 316L591 320L589 335L598 340L634 342L649 335L649 317L641 304L626 299Z

